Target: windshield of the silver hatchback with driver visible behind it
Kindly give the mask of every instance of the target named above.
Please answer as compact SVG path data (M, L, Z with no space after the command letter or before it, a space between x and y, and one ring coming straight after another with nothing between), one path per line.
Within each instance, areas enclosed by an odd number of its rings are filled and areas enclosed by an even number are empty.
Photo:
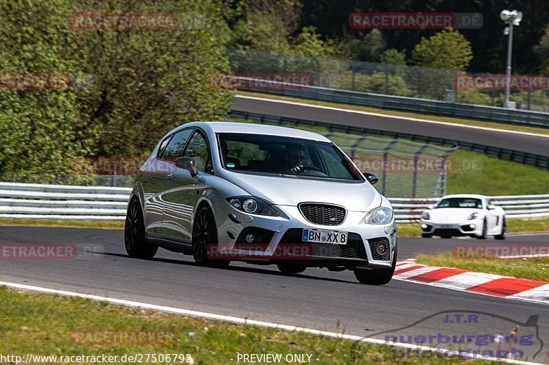
M264 134L218 134L222 165L229 171L283 177L360 180L334 144Z

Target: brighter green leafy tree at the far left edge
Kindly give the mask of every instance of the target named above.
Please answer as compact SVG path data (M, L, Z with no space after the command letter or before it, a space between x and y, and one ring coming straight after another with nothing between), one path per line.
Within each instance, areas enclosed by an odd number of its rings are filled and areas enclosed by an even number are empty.
M38 1L34 6L1 6L0 64L5 84L0 92L0 177L4 181L86 181L71 175L71 163L91 153L98 128L87 123L75 93L67 90L69 75L78 70L76 62L63 57L77 41L63 26L72 11L71 5L61 2L49 9ZM40 80L32 83L19 79L38 74ZM50 76L63 83L47 86Z

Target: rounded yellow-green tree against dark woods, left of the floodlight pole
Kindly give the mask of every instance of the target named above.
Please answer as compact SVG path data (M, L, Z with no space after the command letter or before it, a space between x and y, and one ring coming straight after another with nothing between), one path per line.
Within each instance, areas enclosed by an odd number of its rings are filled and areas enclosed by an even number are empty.
M452 68L466 71L473 58L470 42L457 30L444 29L421 42L412 51L412 62L418 66Z

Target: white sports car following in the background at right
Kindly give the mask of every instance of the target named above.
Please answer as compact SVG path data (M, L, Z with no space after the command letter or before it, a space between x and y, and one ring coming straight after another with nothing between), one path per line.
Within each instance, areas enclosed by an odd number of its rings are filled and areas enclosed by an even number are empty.
M421 237L471 236L481 240L494 236L504 240L505 212L477 194L445 195L432 209L421 214Z

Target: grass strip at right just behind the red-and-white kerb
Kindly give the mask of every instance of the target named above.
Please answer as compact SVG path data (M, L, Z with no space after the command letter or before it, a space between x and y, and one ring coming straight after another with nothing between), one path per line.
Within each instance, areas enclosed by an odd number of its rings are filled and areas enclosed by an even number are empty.
M549 281L549 257L498 259L491 257L460 257L453 253L418 255L418 264L462 268L496 275Z

